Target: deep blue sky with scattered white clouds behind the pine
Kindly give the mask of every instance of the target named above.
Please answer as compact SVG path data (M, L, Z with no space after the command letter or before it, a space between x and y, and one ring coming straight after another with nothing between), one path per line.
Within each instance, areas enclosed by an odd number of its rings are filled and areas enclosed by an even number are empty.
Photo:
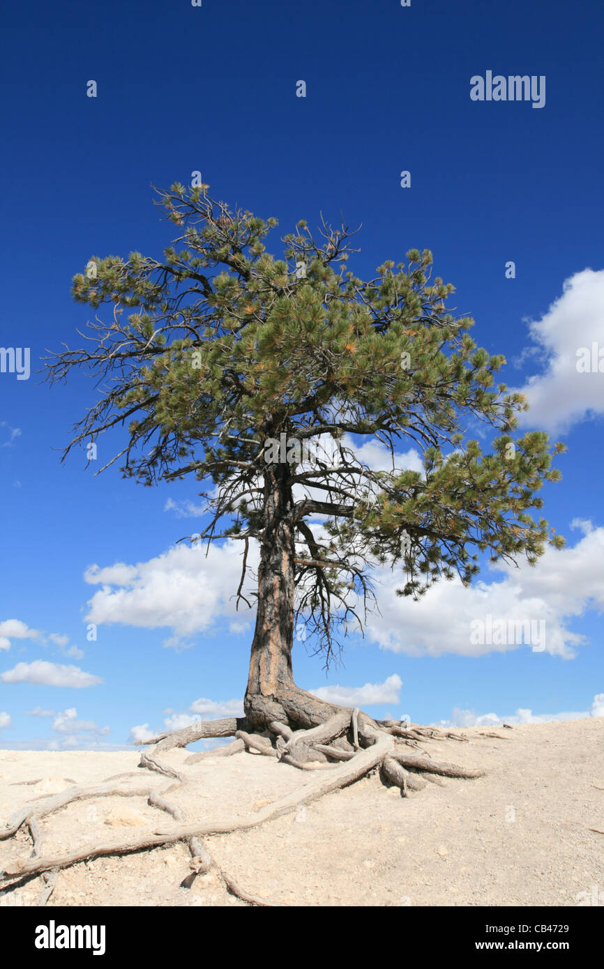
M418 605L384 577L382 618L349 641L345 666L326 679L298 643L297 681L372 684L341 698L420 722L604 712L604 373L576 366L581 348L604 347L603 27L597 0L7 11L0 345L29 347L32 373L0 373L1 745L122 745L133 727L218 715L243 694L253 625L229 603L238 559L175 547L203 525L185 514L195 483L95 478L83 452L61 465L93 382L49 388L34 372L89 317L74 273L93 254L161 257L172 236L150 185L198 170L215 197L278 219L272 251L298 219L337 222L340 209L363 223L361 276L430 248L474 338L532 399L527 426L568 447L562 482L542 492L564 551ZM470 78L488 71L546 78L544 107L471 100ZM102 442L99 465L118 441ZM476 650L468 624L487 613L543 619L546 648Z

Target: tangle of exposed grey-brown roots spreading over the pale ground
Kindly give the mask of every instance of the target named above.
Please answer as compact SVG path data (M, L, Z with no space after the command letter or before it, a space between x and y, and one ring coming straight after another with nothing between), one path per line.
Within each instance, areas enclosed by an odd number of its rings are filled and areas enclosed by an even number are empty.
M314 704L320 703L316 698L311 699ZM6 828L0 829L0 840L13 837L19 828L25 826L29 830L33 844L31 857L9 862L4 872L0 872L0 881L15 882L23 877L43 875L45 887L34 904L45 905L54 889L57 873L63 868L84 860L121 856L186 841L192 855L190 862L192 870L181 882L183 888L190 888L197 875L214 868L228 891L241 900L250 905L272 906L275 903L243 890L212 857L203 839L264 825L275 818L290 814L302 804L309 804L354 783L376 767L381 770L385 781L400 789L403 797L406 797L409 792L421 791L426 787L427 780L442 783L438 776L433 775L473 778L483 773L477 768L435 762L425 751L421 754L417 753L419 739L465 740L466 737L443 734L432 728L419 728L416 725L377 723L356 708L336 707L327 703L324 704L324 720L313 723L313 718L316 719L317 707L306 701L304 703L302 729L298 730L292 728L291 722L284 723L281 720L268 719L261 728L258 723L252 727L247 718L232 717L195 723L174 734L162 734L146 741L152 746L143 752L140 767L170 778L170 782L164 782L163 786L150 781L143 784L128 783L136 777L136 774L130 772L116 775L103 784L90 787L76 786L60 794L29 801L13 814ZM272 708L270 706L270 710ZM300 724L300 721L298 723ZM186 747L187 744L202 738L224 736L234 736L235 739L226 746L195 753L186 759L185 764L203 763L207 757L228 757L247 750L302 770L318 771L318 776L302 784L291 794L272 801L260 811L242 819L206 823L186 821L180 807L168 800L166 795L171 791L192 785L193 779L185 776L175 766L160 760L156 755L160 751ZM48 850L45 853L42 852L38 825L41 818L77 800L112 796L145 797L149 805L170 815L175 824L156 828L119 843L93 842L81 845L75 851L66 854L52 855ZM16 883L13 888L16 888Z

